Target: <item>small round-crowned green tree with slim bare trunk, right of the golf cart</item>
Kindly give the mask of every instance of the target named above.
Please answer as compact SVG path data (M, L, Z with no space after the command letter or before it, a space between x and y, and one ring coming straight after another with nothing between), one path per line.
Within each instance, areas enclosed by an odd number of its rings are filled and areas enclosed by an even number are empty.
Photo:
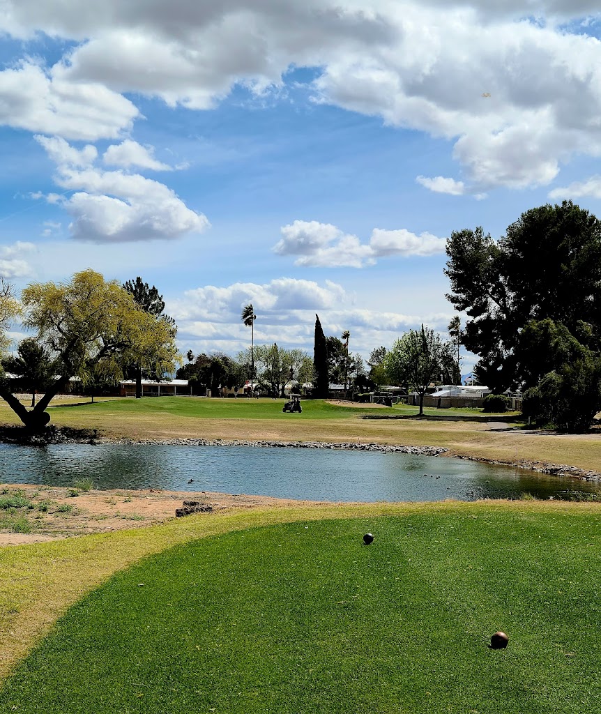
M420 396L420 416L423 414L423 398L431 381L448 370L453 355L448 343L444 343L433 330L421 326L410 330L396 340L383 360L388 374L398 384L407 384Z

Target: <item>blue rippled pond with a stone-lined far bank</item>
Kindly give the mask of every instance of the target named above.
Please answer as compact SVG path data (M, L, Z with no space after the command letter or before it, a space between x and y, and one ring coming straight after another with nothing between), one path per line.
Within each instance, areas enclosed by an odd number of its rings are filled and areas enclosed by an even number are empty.
M0 481L95 488L218 491L311 501L565 498L601 484L475 461L378 451L250 446L0 444Z

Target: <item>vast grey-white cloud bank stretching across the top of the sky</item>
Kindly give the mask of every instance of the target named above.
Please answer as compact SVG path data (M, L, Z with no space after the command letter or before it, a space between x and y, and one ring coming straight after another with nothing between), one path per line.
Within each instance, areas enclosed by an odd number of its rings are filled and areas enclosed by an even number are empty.
M4 31L76 44L49 71L0 72L0 121L110 138L139 116L125 93L210 109L236 84L261 94L313 67L314 101L453 141L466 183L423 177L431 190L544 186L601 154L601 42L558 24L597 13L592 0L6 0ZM158 169L138 161L115 165Z

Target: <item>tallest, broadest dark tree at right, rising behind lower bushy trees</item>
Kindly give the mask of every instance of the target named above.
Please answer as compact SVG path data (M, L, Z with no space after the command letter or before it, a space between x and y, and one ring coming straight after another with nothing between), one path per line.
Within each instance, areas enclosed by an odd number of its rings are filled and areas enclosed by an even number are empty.
M572 335L587 323L599 340L601 221L571 201L525 211L499 241L480 227L454 231L447 255L447 297L469 318L463 344L480 356L476 371L494 392L535 386L528 364L540 353L516 354L530 321L548 318Z

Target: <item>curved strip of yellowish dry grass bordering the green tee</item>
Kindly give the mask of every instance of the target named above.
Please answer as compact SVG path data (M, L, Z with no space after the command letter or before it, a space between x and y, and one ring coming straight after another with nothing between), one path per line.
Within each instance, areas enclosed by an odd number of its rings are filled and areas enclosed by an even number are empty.
M0 678L83 595L137 560L228 531L322 518L403 516L410 513L598 513L590 503L480 501L478 503L329 504L257 508L190 516L161 526L101 533L0 550Z

